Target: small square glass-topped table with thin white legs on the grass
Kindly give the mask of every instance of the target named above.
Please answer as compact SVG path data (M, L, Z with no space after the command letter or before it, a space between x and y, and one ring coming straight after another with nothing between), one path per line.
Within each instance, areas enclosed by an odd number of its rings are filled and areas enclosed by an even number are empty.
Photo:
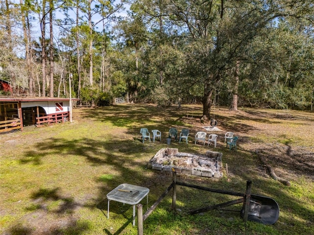
M138 204L145 196L147 196L148 205L149 188L136 185L121 184L107 194L109 219L109 202L110 200L133 205L133 226L135 226L135 205Z

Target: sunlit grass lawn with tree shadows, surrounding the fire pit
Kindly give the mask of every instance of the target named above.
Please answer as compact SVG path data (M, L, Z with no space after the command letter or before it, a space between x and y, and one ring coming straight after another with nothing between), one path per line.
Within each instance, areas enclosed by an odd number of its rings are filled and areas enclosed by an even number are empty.
M221 131L217 147L194 144L204 131L201 106L158 109L154 105L117 105L73 110L73 122L0 135L1 235L118 235L137 234L132 226L132 206L110 202L106 194L122 183L150 189L149 206L172 182L172 176L147 168L161 148L180 152L223 153L223 178L178 174L177 180L208 188L271 197L280 207L274 225L248 221L237 211L214 210L187 215L191 210L237 199L226 194L177 187L177 211L171 210L171 193L144 221L145 235L312 235L314 234L314 115L291 110L215 110ZM140 128L162 132L161 142L142 143ZM189 142L166 144L170 127L190 130ZM230 151L224 134L239 137ZM152 136L152 134L151 134ZM258 153L258 154L257 154ZM263 155L276 175L274 180L261 162ZM226 172L228 164L228 177ZM146 198L142 201L146 209Z

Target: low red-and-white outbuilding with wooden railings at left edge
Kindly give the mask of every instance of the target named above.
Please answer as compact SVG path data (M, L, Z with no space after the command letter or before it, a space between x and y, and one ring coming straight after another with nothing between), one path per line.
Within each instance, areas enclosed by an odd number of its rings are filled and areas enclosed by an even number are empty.
M71 99L78 101L79 99ZM0 97L0 134L24 126L51 124L70 120L72 114L69 98L49 97Z

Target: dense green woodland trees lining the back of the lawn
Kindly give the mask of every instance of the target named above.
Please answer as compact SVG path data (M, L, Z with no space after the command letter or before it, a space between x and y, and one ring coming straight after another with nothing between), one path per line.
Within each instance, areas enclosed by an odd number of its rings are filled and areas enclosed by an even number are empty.
M131 101L150 102L153 90L159 96L154 102L162 107L178 99L171 94L183 102L199 103L212 100L203 96L213 89L224 105L231 103L235 91L244 106L309 109L313 105L311 1L137 0L127 1L131 6L126 18L115 17L112 13L122 10L125 2L96 1L91 8L88 2L78 6L71 1L55 3L65 17L61 20L56 15L53 22L54 32L60 31L54 42L58 46L54 50L54 94L65 96L56 92L62 84L61 75L79 71L80 81L75 74L73 94L99 105L110 104L110 96L127 93ZM69 17L71 9L82 13L77 25L76 19ZM22 88L27 92L31 77L38 81L31 83L33 90L41 91L43 48L31 42L34 69L29 70L25 58L18 58L12 48L24 48L33 37L21 38L11 29L24 25L22 20L40 16L42 10L32 0L0 8L0 64L16 91ZM86 20L89 10L91 22ZM53 14L55 11L52 9ZM95 21L97 15L103 21ZM107 24L111 20L118 23L114 28ZM101 23L104 28L99 27ZM46 49L49 62L51 55ZM91 59L94 86L86 87ZM238 89L235 61L240 63ZM171 88L171 92L157 86ZM79 91L81 87L85 88Z

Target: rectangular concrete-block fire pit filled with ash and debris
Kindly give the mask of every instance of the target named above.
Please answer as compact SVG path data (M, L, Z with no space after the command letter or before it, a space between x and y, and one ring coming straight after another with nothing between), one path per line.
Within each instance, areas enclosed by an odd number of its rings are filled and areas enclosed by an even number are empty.
M199 175L204 177L222 177L222 153L207 151L205 154L180 153L177 148L162 148L150 160L149 165L156 170Z

